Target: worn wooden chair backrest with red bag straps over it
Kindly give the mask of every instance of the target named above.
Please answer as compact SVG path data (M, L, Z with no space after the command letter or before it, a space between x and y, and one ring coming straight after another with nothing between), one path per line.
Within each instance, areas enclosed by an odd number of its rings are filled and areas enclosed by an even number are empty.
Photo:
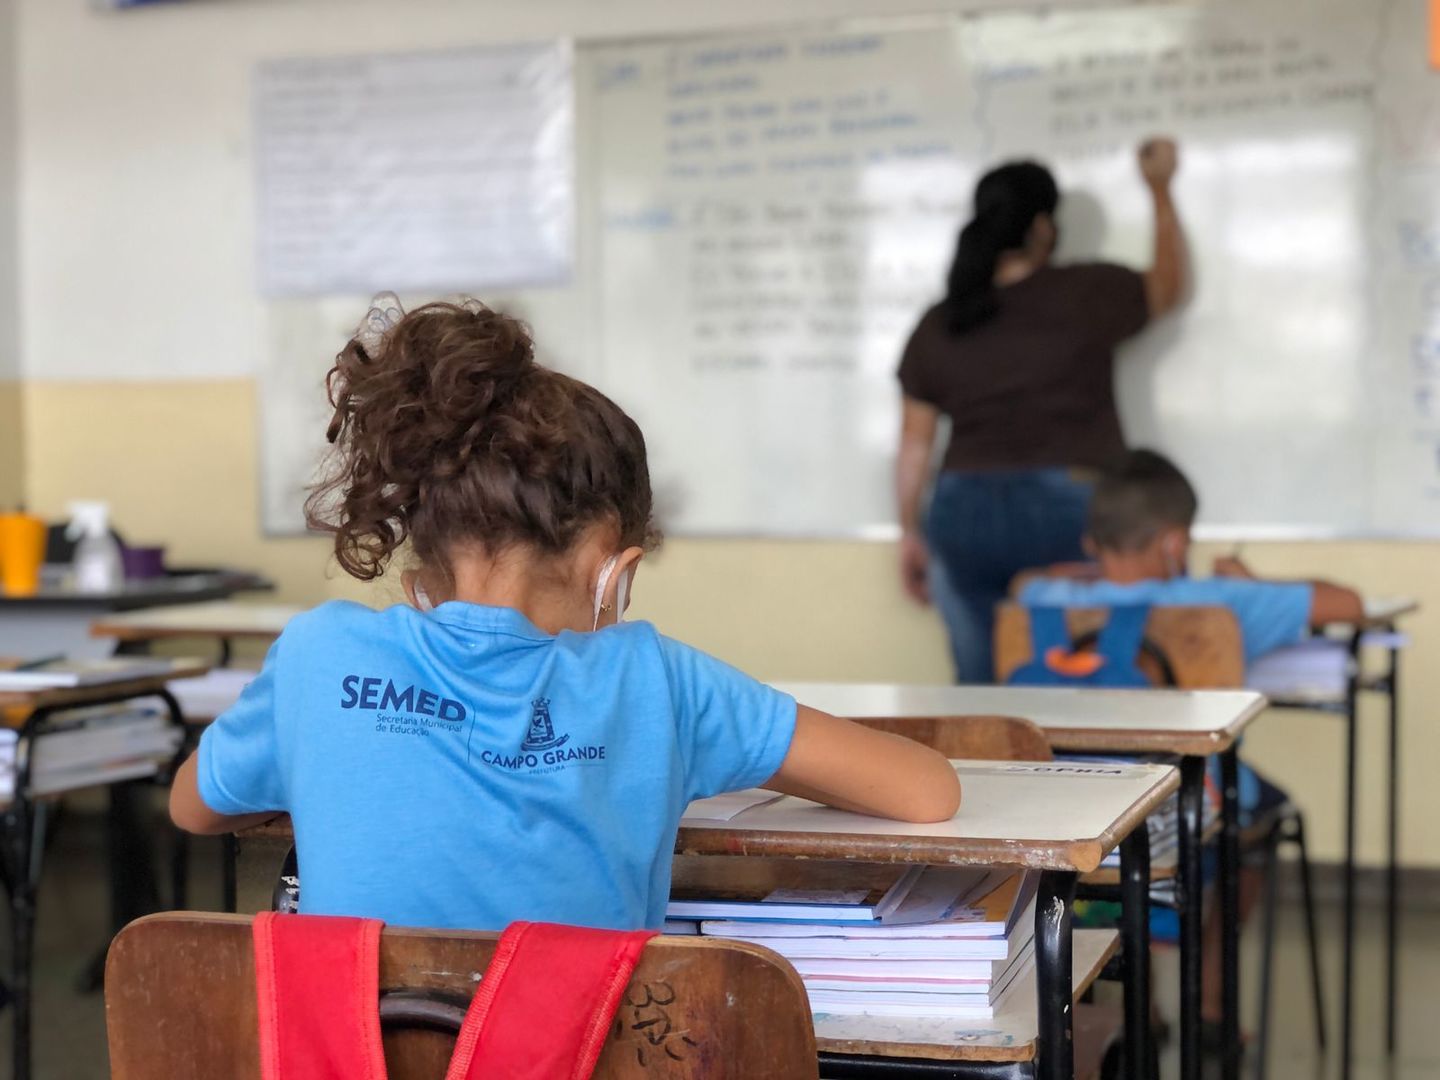
M384 930L382 1022L392 1080L445 1074L497 937ZM251 919L171 912L127 926L105 963L105 1020L114 1080L258 1080ZM544 1017L534 1018L534 1035L546 1037ZM805 988L783 959L742 942L658 937L635 968L595 1077L815 1080L816 1067Z

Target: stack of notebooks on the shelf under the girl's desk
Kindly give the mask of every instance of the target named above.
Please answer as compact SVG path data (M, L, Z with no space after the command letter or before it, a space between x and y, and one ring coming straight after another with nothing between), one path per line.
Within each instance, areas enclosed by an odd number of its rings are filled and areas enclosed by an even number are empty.
M785 956L818 1014L989 1020L1031 963L1037 881L1008 870L691 858L677 860L668 913Z

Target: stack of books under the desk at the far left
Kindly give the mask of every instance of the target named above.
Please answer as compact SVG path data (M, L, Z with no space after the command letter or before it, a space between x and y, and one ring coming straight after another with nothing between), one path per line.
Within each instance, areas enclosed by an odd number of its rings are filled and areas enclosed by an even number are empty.
M30 743L30 793L154 776L180 749L183 733L154 708L104 706L55 717ZM0 729L0 799L14 798L13 729Z

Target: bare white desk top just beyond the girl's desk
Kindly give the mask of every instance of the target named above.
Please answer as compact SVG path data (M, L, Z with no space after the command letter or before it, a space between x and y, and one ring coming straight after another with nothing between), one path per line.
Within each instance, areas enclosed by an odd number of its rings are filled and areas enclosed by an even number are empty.
M1076 690L1070 687L780 683L805 706L844 717L1018 716L1057 750L1210 755L1228 749L1264 710L1254 690Z

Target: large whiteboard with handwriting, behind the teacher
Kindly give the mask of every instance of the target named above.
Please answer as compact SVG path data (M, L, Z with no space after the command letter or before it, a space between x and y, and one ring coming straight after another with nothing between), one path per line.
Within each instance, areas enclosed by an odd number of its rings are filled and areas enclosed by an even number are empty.
M1424 40L1424 0L1223 0L582 46L576 279L507 300L634 412L670 533L893 536L894 367L975 179L1051 163L1061 255L1143 266L1174 132L1195 289L1120 356L1130 442L1210 534L1440 534Z

